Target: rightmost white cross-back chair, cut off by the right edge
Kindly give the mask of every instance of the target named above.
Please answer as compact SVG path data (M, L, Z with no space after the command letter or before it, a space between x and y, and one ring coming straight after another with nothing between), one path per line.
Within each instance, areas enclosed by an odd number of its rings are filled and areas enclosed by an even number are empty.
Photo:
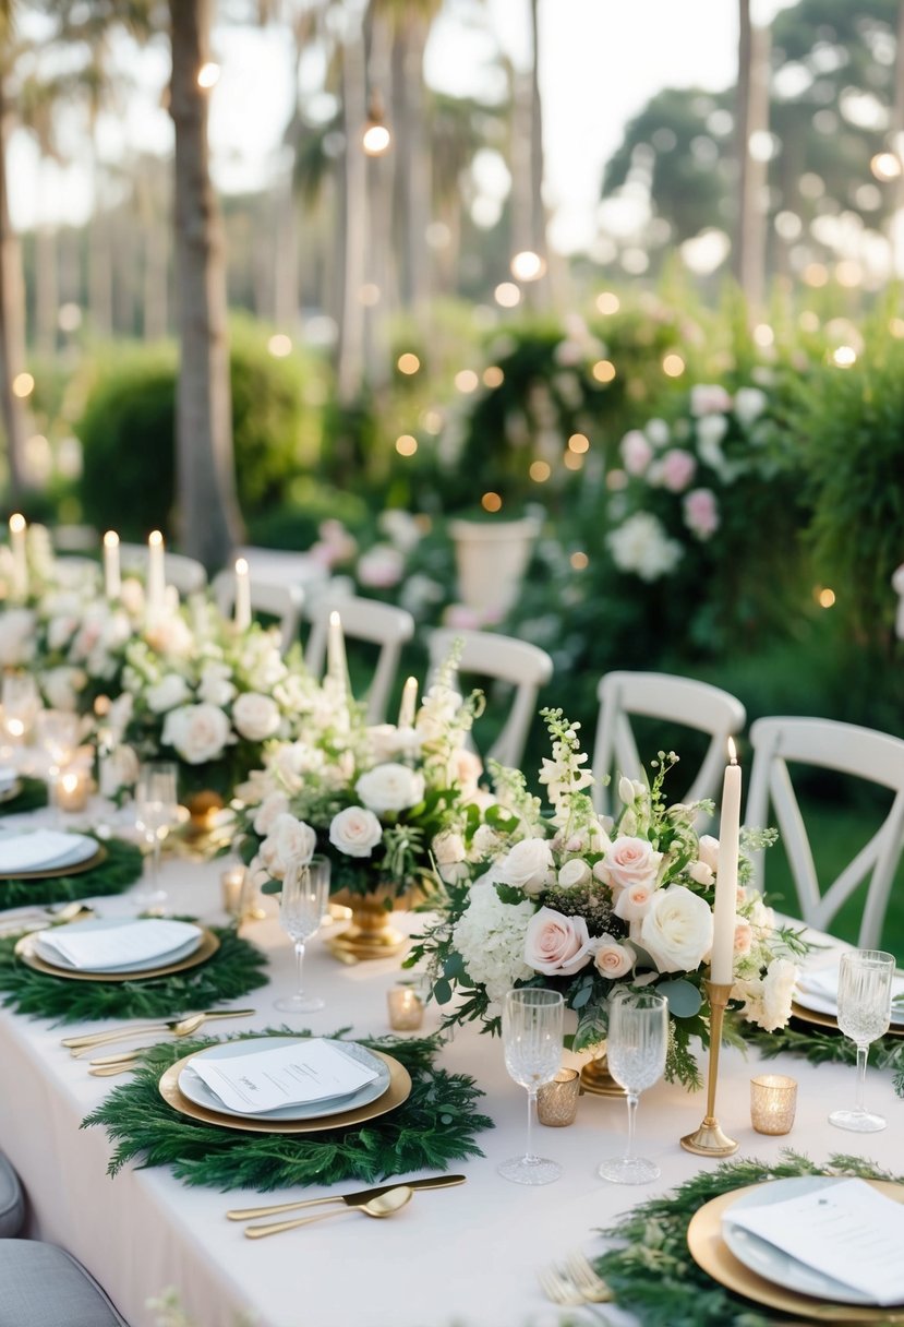
M745 821L760 828L767 824L778 828L803 921L828 930L839 908L870 877L858 943L862 949L876 949L904 847L904 742L835 719L767 718L757 719L750 727L750 743L753 767ZM789 762L867 779L895 794L870 841L826 889L819 888ZM770 820L773 813L774 820ZM754 855L754 884L760 890L766 871L763 857L763 852Z

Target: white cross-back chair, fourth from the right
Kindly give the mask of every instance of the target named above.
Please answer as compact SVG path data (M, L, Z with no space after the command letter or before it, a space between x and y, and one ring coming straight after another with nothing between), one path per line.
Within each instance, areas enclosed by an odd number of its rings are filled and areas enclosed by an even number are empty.
M382 723L399 670L402 646L415 634L415 620L404 608L382 604L375 598L357 594L322 596L305 609L305 616L311 622L305 645L305 661L314 677L322 677L326 666L326 641L333 612L339 614L346 640L379 646L376 666L367 689L367 722Z

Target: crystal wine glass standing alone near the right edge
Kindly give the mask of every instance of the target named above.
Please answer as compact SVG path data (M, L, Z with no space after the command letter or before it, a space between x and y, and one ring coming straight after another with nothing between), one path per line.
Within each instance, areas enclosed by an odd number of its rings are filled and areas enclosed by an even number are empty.
M838 970L838 1026L856 1044L856 1104L832 1111L828 1123L855 1133L876 1133L885 1119L863 1104L870 1043L888 1031L892 1013L895 958L879 949L855 949L842 954Z

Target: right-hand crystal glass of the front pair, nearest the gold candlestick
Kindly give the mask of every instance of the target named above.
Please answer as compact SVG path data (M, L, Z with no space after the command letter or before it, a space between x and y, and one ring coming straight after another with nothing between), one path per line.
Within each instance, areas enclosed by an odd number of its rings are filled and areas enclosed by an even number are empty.
M638 1097L659 1082L668 1047L668 1002L655 991L616 991L610 1002L606 1059L628 1097L628 1141L622 1157L603 1161L599 1174L614 1184L648 1184L659 1166L634 1154Z

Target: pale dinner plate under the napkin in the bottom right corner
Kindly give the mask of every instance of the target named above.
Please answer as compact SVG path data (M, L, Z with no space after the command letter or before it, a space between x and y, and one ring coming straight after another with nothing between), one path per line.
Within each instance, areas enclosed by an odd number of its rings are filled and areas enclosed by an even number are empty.
M786 1198L801 1198L817 1189L839 1184L844 1178L847 1177L806 1174L799 1178L774 1180L760 1189L752 1189L742 1194L737 1202L733 1202L722 1217L722 1239L738 1262L777 1286L839 1304L875 1304L875 1298L847 1286L843 1281L835 1281L834 1277L817 1271L815 1267L798 1262L777 1245L754 1235L752 1230L742 1230L732 1223L732 1216L742 1208L762 1208L771 1202L783 1202Z

